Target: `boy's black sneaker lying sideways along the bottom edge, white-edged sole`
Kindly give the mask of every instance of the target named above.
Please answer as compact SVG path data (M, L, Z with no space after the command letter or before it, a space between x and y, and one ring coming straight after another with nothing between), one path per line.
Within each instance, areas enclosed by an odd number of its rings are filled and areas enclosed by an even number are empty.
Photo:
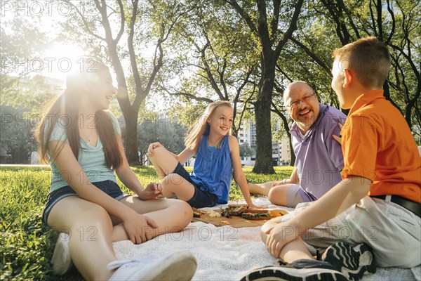
M267 266L252 270L241 279L249 280L347 281L347 277L326 261L300 259L286 266Z

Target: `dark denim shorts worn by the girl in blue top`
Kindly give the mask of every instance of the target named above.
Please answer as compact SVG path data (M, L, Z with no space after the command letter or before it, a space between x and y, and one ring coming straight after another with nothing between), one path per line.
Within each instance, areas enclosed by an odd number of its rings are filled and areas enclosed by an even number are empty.
M189 203L190 206L194 208L204 208L204 207L213 207L216 205L216 202L218 202L218 197L214 195L213 193L206 191L203 191L199 188L199 186L192 181L192 178L190 178L189 172L186 171L186 169L180 164L180 162L175 167L173 174L178 174L182 178L184 178L189 183L192 183L194 186L194 194L193 197L190 198L190 200L187 200L186 202Z

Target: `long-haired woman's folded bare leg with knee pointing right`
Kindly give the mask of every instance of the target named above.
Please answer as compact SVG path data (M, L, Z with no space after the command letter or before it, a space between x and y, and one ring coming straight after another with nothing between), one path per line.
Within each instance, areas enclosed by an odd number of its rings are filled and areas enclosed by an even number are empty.
M137 196L128 196L120 200L138 214L143 214L152 218L158 228L148 228L151 237L156 237L165 233L175 233L183 230L192 221L192 207L184 201L173 199L161 200L140 200ZM114 223L121 221L113 219ZM123 226L114 226L112 241L127 240L127 234Z

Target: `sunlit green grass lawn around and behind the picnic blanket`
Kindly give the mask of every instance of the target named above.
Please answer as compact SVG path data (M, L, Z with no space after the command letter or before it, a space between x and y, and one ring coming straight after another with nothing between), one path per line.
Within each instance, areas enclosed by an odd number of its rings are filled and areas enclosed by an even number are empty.
M260 175L251 169L243 170L253 183L279 180L292 171L292 167L275 167L275 175ZM143 185L159 181L151 166L133 171ZM0 280L83 280L76 270L64 277L53 275L50 260L58 234L41 221L50 181L51 169L46 166L0 166ZM229 200L242 198L232 181Z

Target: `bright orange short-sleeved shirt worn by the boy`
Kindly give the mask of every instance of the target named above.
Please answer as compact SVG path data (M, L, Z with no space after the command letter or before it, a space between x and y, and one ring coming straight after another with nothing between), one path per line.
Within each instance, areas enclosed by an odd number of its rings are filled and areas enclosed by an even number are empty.
M370 195L399 195L421 203L421 157L401 112L383 90L363 93L352 105L342 135L342 178L369 178Z

